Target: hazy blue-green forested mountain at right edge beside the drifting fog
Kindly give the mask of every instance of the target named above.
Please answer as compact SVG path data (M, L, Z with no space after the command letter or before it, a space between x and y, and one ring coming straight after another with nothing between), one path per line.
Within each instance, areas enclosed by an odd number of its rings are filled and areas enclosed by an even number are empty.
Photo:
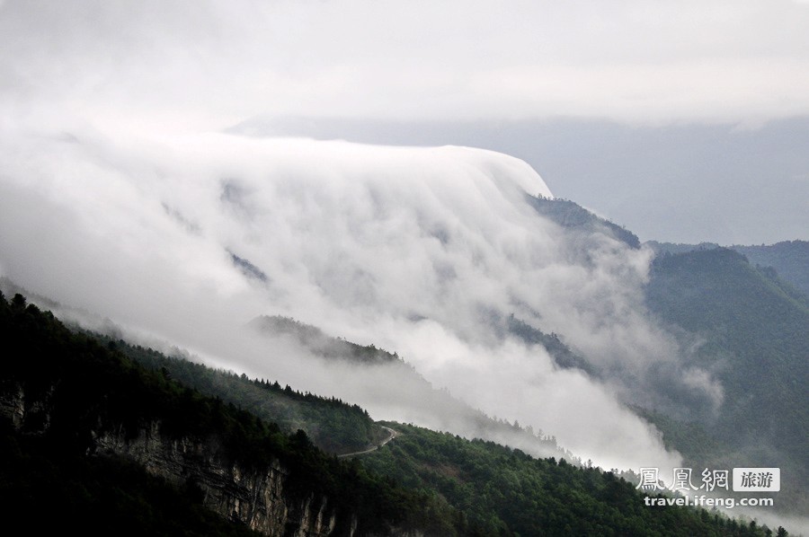
M725 248L662 253L646 289L650 310L677 327L689 358L716 376L723 401L716 415L694 415L682 435L654 419L690 462L781 466L793 477L782 506L805 509L809 401L805 386L809 306L773 272ZM684 426L683 426L684 427ZM713 449L709 447L713 445Z

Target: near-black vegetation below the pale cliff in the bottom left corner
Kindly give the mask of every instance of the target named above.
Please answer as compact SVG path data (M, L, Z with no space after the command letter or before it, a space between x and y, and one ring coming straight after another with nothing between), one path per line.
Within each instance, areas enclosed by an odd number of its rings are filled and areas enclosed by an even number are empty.
M24 534L255 535L140 466L87 458L50 438L26 436L0 419L0 502Z

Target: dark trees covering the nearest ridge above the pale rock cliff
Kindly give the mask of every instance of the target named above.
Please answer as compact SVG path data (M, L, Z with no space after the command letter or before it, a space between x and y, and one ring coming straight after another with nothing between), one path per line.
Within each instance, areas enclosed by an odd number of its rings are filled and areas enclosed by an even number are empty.
M340 462L312 445L303 431L286 435L277 425L244 409L204 397L160 371L148 371L119 351L70 332L52 314L26 304L22 295L15 295L10 303L0 295L0 337L9 348L17 349L0 362L4 398L17 383L24 387L26 401L49 401L38 410L29 409L22 429L14 429L7 418L0 418L4 434L0 445L4 453L11 453L0 466L0 501L4 507L14 507L10 512L61 514L63 506L40 501L49 492L41 488L53 487L72 498L64 506L77 514L117 502L116 508L122 511L116 514L112 510L111 516L120 515L121 521L143 516L147 519L138 527L146 528L144 533L177 534L173 526L166 525L174 520L174 504L173 500L159 501L164 494L162 484L131 470L124 461L85 455L93 451L93 436L103 431L122 429L135 437L143 427L157 423L164 436L212 441L221 446L222 456L245 468L268 468L272 461L280 461L289 471L285 494L301 499L312 494L330 498L338 512L357 515L360 535L384 534L391 526L442 535L470 531L451 507L436 503L429 494L396 487L356 462ZM118 470L105 473L109 468ZM128 471L136 471L138 476L115 478ZM39 492L17 492L31 490ZM178 494L182 496L182 491ZM194 516L201 506L190 503L185 508L188 516ZM205 516L187 527L206 524ZM88 520L67 516L61 530L71 523L84 530ZM188 532L192 534L191 529ZM117 528L114 533L127 533L127 528ZM348 527L338 527L334 534L344 533L349 533Z

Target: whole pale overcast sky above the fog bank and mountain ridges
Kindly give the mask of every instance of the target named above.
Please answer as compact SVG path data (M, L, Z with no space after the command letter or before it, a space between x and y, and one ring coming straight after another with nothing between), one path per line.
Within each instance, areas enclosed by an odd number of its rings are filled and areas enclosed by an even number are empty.
M0 0L0 112L46 130L303 119L291 134L516 154L642 239L809 229L805 1Z

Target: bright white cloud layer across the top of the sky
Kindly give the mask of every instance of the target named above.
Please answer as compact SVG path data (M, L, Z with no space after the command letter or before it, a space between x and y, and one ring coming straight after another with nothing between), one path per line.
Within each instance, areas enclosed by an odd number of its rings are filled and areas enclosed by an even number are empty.
M4 96L98 122L221 128L265 113L760 124L809 113L809 13L787 1L0 10Z

